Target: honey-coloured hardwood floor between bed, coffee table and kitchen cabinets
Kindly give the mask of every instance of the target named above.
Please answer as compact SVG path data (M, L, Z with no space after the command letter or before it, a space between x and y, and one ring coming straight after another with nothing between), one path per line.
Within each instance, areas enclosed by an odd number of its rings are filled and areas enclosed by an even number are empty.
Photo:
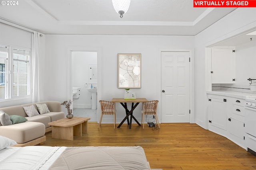
M141 146L151 168L163 170L255 170L256 156L232 141L190 123L164 123L160 129L127 124L88 123L88 134L74 141L52 139L45 146Z

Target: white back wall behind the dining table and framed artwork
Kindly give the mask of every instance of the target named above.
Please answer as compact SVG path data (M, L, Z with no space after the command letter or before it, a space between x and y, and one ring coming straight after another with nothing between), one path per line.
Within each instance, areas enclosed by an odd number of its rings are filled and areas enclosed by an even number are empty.
M44 100L64 101L68 99L67 74L68 69L67 49L98 48L98 100L111 100L113 97L123 98L124 89L118 88L118 53L141 53L142 56L142 88L132 89L137 98L148 100L160 100L160 82L156 82L160 76L159 49L194 48L194 36L142 36L142 35L46 35L46 60L48 69L45 70ZM160 86L159 86L160 87ZM98 104L99 108L99 104ZM124 109L120 104L116 105L117 122L122 121ZM140 118L141 106L134 114ZM98 109L98 119L100 109ZM141 118L140 118L141 119ZM140 120L138 119L138 120ZM108 121L104 119L103 121ZM109 122L113 122L112 117Z

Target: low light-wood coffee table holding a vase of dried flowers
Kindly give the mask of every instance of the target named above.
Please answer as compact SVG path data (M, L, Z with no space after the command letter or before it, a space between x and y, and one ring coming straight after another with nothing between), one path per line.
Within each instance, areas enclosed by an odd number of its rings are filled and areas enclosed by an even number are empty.
M88 120L90 120L88 117L64 118L52 121L48 125L52 126L52 138L74 140L74 136L82 136L82 133L87 133Z

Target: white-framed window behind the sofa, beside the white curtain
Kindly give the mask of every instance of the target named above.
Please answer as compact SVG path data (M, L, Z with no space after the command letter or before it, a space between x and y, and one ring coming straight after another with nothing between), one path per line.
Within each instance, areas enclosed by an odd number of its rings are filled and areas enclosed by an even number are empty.
M30 95L29 63L29 50L0 45L0 100Z

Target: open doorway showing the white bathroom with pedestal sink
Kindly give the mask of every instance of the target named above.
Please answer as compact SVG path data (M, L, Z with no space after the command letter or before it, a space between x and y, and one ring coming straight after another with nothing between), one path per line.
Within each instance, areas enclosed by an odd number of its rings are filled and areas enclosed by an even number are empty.
M97 52L72 51L71 60L73 115L97 121Z

